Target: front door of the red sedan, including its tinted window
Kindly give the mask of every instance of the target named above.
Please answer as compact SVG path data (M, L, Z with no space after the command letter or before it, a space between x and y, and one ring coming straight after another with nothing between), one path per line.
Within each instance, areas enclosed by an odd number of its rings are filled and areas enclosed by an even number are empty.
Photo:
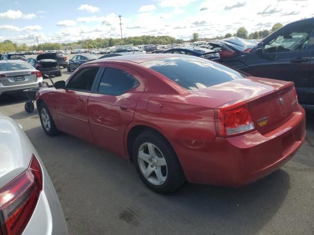
M56 115L62 131L94 142L87 115L88 97L100 67L85 67L73 74L65 89L58 89Z

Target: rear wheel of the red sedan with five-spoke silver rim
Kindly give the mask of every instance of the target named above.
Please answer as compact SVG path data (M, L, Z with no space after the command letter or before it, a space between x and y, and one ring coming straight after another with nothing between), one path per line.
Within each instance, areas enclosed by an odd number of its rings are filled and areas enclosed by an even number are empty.
M173 192L185 182L175 151L155 131L145 131L135 139L133 162L142 182L157 193Z

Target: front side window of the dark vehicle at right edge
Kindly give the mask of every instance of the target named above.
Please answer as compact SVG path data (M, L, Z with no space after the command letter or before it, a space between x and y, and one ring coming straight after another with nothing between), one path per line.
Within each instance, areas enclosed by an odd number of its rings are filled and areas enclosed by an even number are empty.
M303 25L284 31L265 45L265 53L305 50L313 25Z

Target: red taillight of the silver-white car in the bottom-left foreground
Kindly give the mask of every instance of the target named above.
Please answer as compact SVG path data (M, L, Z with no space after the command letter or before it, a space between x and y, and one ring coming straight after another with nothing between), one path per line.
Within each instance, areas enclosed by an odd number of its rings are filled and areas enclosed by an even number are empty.
M34 155L26 171L0 188L0 234L21 235L43 188L41 166Z

